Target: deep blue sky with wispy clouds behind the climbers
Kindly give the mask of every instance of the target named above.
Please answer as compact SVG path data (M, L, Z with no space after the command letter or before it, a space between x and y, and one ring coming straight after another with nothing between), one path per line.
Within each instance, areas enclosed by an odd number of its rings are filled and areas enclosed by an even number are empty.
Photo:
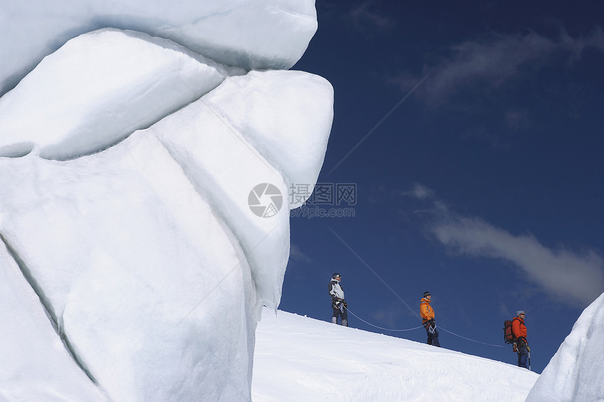
M604 4L461 3L317 1L294 69L334 86L319 182L356 199L308 208L354 216L291 218L280 309L329 320L341 272L350 311L414 328L430 290L441 328L483 342L443 347L509 363L487 344L524 309L541 372L604 292Z

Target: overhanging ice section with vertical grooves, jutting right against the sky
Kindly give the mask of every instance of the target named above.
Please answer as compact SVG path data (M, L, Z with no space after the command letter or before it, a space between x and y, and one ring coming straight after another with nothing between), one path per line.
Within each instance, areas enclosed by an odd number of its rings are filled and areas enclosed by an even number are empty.
M199 192L213 200L242 244L258 297L270 307L281 297L289 214L263 219L242 201L256 185L269 183L279 189L287 210L287 177L313 187L332 116L333 91L326 80L304 72L250 72L229 77L147 130L162 140Z

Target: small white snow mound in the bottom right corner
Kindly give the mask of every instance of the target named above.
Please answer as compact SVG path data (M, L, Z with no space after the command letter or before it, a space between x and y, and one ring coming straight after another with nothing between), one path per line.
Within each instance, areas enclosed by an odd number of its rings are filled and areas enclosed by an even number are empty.
M579 316L527 402L604 401L604 293Z

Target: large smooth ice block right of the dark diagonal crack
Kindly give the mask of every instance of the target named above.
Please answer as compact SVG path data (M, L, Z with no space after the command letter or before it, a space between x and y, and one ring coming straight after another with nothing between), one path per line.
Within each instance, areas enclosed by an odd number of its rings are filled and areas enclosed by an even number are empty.
M115 401L245 400L257 319L247 260L156 138L0 169L1 233L100 389Z

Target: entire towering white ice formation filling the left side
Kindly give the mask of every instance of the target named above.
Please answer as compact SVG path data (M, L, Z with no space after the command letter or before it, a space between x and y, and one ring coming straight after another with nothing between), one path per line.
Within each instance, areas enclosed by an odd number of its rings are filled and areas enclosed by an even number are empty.
M34 67L0 98L0 398L249 401L288 186L317 180L333 91L246 70L298 60L314 2L25 1L0 20L20 45L0 45L3 86Z

